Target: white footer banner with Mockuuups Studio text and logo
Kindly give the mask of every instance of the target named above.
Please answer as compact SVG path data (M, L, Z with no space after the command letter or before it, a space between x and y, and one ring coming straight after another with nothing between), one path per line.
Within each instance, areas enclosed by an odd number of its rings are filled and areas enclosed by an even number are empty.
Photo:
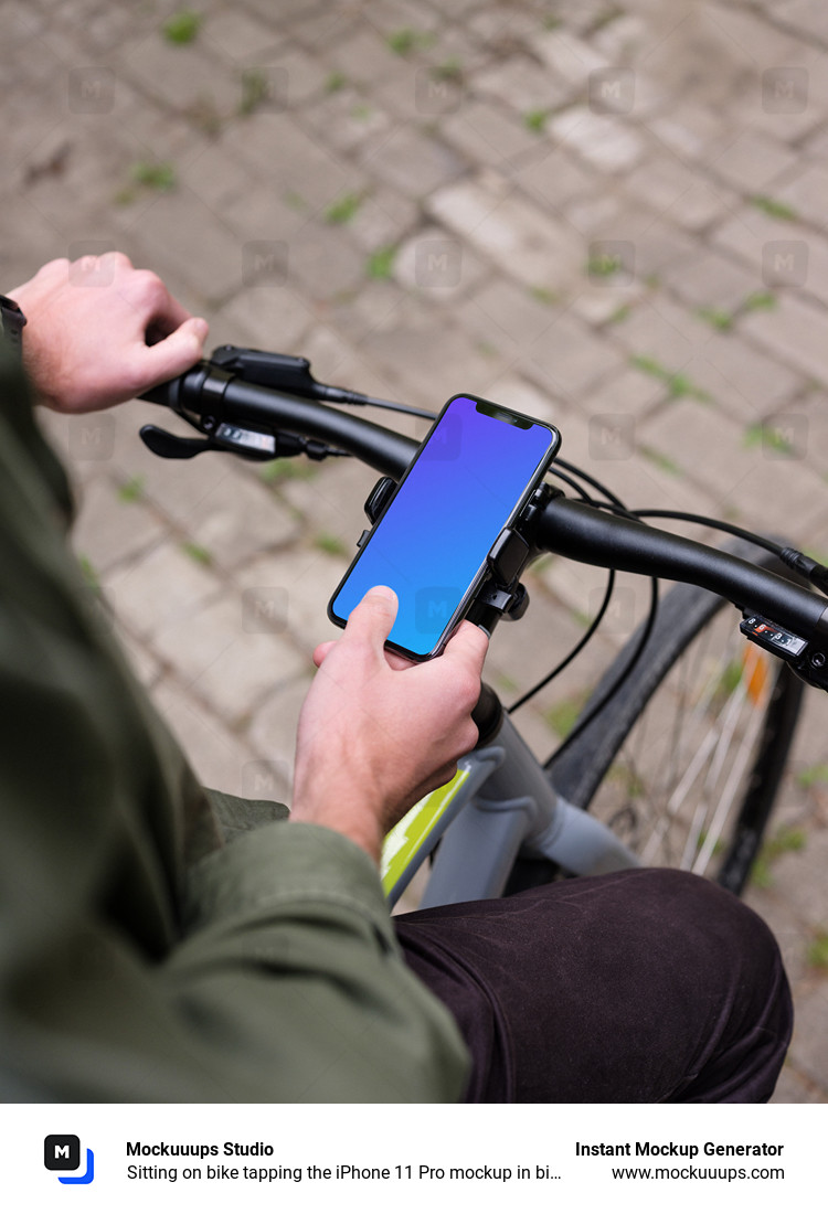
M778 1214L822 1202L828 1151L826 1105L5 1107L10 1210Z

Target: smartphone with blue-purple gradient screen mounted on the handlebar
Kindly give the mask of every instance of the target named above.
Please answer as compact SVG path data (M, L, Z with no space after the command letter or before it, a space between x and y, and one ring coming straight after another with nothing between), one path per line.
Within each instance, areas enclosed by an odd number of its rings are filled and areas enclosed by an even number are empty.
M439 653L486 579L492 545L560 442L554 426L453 396L334 591L334 624L345 626L372 586L391 586L399 611L389 647L415 662Z

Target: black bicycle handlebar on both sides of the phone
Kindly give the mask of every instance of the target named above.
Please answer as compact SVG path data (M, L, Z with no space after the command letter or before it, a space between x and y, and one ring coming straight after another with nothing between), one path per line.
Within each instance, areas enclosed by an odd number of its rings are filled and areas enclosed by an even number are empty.
M205 449L233 449L232 443L221 441L222 424L248 426L260 435L287 433L335 443L378 472L399 480L419 447L415 439L376 422L246 382L210 362L144 393L144 399L172 408L206 433ZM828 603L821 595L707 544L563 495L543 507L533 540L538 551L582 563L702 586L743 612L767 615L809 646L828 652ZM821 668L826 665L823 653L811 654L811 663L815 658Z

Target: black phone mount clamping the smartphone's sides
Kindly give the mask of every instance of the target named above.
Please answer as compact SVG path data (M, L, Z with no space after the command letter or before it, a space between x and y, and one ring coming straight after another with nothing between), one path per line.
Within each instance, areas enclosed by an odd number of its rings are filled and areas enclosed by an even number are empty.
M397 482L393 477L382 476L368 494L364 510L372 527L379 521L396 490ZM546 503L560 494L560 489L543 482L520 517L510 527L503 528L486 557L487 577L466 612L466 619L472 624L492 632L500 619L521 619L526 613L529 592L521 582L521 574L537 555L531 539L534 523ZM365 528L357 540L357 548L362 548L369 535L370 528Z

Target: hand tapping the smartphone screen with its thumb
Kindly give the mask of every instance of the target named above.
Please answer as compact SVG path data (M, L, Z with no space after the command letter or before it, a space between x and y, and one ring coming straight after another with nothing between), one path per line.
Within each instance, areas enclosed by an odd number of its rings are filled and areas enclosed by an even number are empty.
M341 639L318 647L296 741L291 818L339 830L375 860L395 822L477 741L471 710L488 647L463 623L439 657L406 662L384 648L396 614L393 591L375 586Z

